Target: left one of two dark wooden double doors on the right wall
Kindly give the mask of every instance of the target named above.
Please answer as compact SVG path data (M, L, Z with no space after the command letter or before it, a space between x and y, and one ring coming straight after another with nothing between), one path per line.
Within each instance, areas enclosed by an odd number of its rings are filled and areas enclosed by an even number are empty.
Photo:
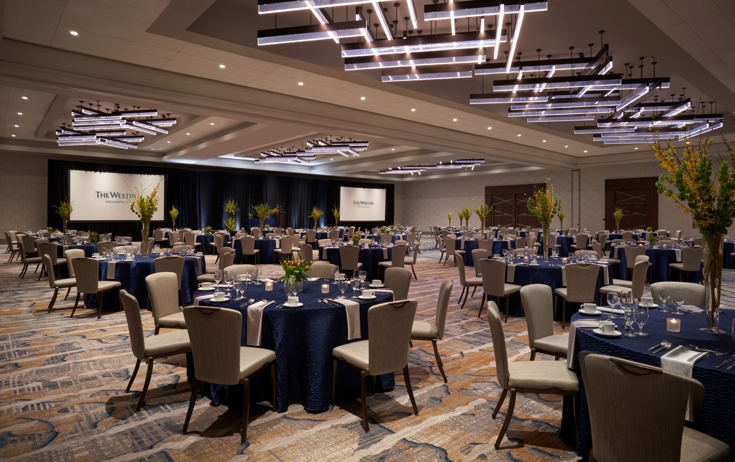
M528 212L528 197L534 188L546 189L545 183L514 184L510 186L486 186L485 203L492 207L488 223L490 226L513 226L514 228L538 228L541 226L534 214Z

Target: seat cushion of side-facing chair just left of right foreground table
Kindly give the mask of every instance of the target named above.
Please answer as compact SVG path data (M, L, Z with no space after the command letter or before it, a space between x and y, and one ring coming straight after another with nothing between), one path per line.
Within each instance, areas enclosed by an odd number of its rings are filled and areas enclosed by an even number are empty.
M508 363L508 385L528 389L578 391L577 375L565 361L513 361Z

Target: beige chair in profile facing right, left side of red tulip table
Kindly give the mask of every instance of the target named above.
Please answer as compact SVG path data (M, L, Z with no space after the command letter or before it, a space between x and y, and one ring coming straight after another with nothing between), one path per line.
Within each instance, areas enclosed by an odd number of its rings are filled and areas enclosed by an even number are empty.
M146 337L146 334L143 333L143 321L140 320L140 306L138 306L137 300L124 289L120 291L120 298L123 309L125 310L125 319L128 322L130 346L137 360L135 361L135 369L133 369L133 373L130 375L128 386L125 389L126 393L130 391L133 380L135 380L135 375L137 375L137 371L140 368L140 361L148 363L146 382L143 383L143 390L140 391L140 397L135 407L135 411L137 412L146 404L146 391L148 391L148 385L151 383L154 360L189 353L191 351L191 345L189 343L189 333L186 330Z

